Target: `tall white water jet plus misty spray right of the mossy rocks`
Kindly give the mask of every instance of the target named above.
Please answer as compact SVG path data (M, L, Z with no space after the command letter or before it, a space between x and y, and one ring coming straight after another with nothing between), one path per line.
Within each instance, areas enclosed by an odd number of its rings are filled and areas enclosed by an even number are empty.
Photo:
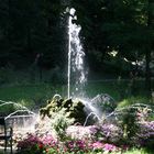
M79 32L81 30L80 25L77 25L75 21L77 16L75 15L76 10L74 8L69 9L69 19L68 19L68 72L67 72L67 98L76 99L82 102L85 106L84 112L87 114L87 119L90 117L96 117L98 120L101 119L102 112L105 112L105 105L111 106L108 108L110 113L116 107L116 101L109 95L98 95L92 100L85 100L84 86L87 81L87 72L85 69L85 53L82 45L79 38ZM75 89L72 89L70 86L74 84ZM73 100L74 101L74 100ZM102 107L103 106L103 107ZM107 111L106 111L107 114Z

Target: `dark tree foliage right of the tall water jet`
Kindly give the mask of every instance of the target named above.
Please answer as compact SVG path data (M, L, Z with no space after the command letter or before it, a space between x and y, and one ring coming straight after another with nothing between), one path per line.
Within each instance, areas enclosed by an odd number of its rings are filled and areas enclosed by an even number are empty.
M154 30L152 0L74 0L86 51L99 55L101 64L112 51L129 62L146 59L146 87L151 90L150 62ZM144 36L144 37L143 37Z

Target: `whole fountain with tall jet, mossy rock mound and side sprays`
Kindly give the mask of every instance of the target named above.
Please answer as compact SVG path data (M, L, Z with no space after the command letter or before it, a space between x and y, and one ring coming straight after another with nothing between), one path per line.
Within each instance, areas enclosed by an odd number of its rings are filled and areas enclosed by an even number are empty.
M79 32L81 28L80 25L77 25L75 23L75 20L77 20L75 12L76 10L72 8L69 10L69 19L68 19L67 100L64 100L59 95L55 95L52 100L47 101L46 107L40 110L40 114L42 119L44 119L45 116L51 118L52 117L51 111L55 112L57 110L61 110L62 108L65 108L67 112L68 111L70 112L70 117L76 119L76 122L80 122L84 124L85 121L85 125L86 125L87 121L91 117L97 118L97 121L100 121L103 113L106 112L107 114L107 108L105 109L105 106L113 105L113 108L112 107L108 108L108 113L110 113L114 109L114 100L108 95L98 95L91 100L75 99L75 98L85 97L84 85L86 84L87 80L87 72L85 69L85 63L84 63L85 53L79 38ZM72 84L74 85L75 89L73 89L70 92ZM15 102L4 102L2 100L0 101L3 102L2 105L0 105L0 107L8 106L8 105L18 107L16 110L11 110L11 112L6 116L6 120L9 119L28 120L29 117L33 121L36 121L34 120L34 118L36 119L36 114L30 111L28 108L22 107L21 105L18 105ZM81 116L81 118L79 119L78 116ZM22 125L22 124L18 123L18 125ZM23 128L25 128L25 124L23 124Z

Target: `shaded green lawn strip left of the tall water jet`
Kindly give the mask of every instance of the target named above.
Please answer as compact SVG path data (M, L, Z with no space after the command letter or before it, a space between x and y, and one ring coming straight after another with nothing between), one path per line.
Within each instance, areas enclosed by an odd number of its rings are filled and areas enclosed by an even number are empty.
M41 106L55 94L64 94L65 86L50 84L3 86L0 88L0 100L21 102L28 107Z

